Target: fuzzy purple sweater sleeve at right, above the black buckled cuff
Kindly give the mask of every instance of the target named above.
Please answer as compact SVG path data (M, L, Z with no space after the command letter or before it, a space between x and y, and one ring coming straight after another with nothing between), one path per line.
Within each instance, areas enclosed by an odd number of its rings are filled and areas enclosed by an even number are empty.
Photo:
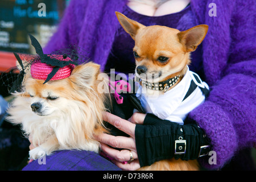
M207 101L189 113L189 118L205 130L217 154L217 164L201 160L206 168L221 168L237 151L253 147L256 142L256 35L252 6L247 1L237 1L230 27L228 63Z

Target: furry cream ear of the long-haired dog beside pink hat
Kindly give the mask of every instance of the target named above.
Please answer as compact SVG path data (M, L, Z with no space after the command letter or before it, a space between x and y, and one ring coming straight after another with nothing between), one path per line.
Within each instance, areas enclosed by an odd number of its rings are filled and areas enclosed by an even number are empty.
M73 83L87 88L94 84L98 74L100 74L100 65L89 62L75 67L69 79L71 79Z

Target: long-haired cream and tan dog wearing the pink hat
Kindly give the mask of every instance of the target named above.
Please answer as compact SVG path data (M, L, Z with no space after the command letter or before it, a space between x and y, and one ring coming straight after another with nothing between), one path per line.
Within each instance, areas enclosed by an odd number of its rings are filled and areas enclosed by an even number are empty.
M100 143L93 137L106 131L102 111L107 95L98 92L100 65L78 65L71 76L62 80L33 78L24 80L24 92L16 93L7 119L21 124L24 134L36 146L30 159L51 155L57 150L88 150L97 152Z

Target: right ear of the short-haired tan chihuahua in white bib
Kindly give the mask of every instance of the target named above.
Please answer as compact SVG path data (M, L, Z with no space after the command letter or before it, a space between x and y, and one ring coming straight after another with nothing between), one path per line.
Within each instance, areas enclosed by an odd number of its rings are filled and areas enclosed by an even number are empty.
M208 31L207 24L200 24L198 26L189 28L188 30L179 32L177 34L180 43L185 46L187 52L195 51L197 46L204 40Z

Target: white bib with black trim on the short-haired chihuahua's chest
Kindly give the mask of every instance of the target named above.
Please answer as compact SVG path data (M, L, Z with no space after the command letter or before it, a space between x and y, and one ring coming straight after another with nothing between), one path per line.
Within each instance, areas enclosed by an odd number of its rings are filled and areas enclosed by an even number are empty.
M196 73L188 69L182 80L174 88L159 96L147 96L143 94L146 93L146 88L140 85L136 96L141 101L141 105L146 113L151 113L160 119L166 119L183 125L184 119L187 117L188 113L205 100L203 92L197 86L190 96L183 101L185 94L188 92L192 78L196 85L200 85L203 88L205 86L209 89L207 83L198 83L193 74Z

